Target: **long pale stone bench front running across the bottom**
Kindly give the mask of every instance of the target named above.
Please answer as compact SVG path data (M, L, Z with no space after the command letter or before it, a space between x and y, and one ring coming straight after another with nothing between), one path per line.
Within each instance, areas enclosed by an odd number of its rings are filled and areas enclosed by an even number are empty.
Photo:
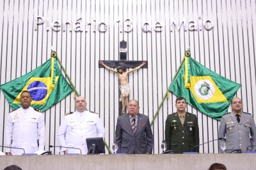
M239 161L234 161L239 160ZM159 155L35 155L0 156L0 169L15 164L26 170L63 169L208 169L213 163L227 169L255 169L256 155L239 154L159 154Z

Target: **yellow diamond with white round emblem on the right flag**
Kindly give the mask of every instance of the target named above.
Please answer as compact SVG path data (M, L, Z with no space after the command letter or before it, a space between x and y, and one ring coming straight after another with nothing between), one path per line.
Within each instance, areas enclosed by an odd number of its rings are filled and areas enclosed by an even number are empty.
M211 76L190 76L190 87L198 103L227 102Z

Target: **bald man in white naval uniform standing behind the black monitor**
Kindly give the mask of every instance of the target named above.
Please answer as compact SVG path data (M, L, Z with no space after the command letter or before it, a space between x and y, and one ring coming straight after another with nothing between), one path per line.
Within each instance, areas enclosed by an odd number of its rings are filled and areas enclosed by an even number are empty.
M86 111L84 97L76 98L76 111L66 113L58 131L59 145L79 148L82 154L87 154L86 138L105 137L105 129L100 118L95 113ZM80 153L80 150L61 148L64 153Z

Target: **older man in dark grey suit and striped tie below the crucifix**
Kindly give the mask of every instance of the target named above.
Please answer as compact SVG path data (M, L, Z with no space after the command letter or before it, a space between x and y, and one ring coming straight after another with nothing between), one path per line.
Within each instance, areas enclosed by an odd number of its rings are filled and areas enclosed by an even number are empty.
M150 154L154 145L153 134L146 115L138 113L140 107L136 100L129 101L128 113L117 118L117 153Z

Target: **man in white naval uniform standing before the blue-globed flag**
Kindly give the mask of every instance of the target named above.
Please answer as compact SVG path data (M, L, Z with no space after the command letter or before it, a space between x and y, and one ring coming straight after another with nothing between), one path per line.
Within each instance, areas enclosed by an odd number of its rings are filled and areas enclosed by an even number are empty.
M26 90L23 91L20 94L21 108L12 111L6 123L5 145L11 145L12 142L12 147L23 148L25 153L44 150L45 145L44 114L40 110L31 108L31 102L31 94ZM6 155L21 155L23 150L11 148L11 152L7 152L6 148Z

